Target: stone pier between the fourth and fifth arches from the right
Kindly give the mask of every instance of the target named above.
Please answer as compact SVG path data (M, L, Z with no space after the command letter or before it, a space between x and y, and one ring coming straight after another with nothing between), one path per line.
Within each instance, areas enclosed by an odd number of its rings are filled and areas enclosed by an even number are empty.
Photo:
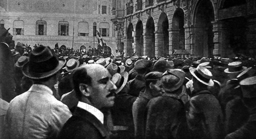
M155 33L155 56L163 56L164 55L164 34L160 32L154 32Z

